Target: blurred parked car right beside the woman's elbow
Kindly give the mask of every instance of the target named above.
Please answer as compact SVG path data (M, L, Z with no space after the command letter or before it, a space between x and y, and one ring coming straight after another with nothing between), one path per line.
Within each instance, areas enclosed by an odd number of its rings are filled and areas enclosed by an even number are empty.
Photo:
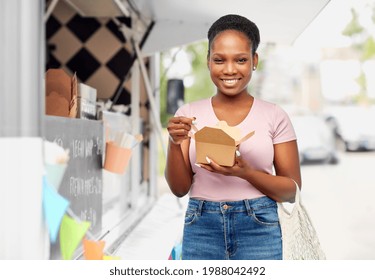
M300 163L337 164L335 135L324 118L308 114L291 116L299 150Z

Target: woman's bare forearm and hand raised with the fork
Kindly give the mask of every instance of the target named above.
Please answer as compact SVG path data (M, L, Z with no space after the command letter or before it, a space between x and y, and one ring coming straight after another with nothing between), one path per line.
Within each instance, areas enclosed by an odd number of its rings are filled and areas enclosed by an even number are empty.
M178 197L186 195L191 187L193 172L189 161L189 131L191 118L173 117L168 122L169 144L165 179Z

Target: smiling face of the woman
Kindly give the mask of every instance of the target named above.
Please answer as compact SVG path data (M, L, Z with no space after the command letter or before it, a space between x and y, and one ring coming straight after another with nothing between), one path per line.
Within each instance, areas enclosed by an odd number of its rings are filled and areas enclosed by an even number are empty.
M239 31L223 31L211 44L208 68L218 93L247 94L252 69L257 64L258 55L252 55L249 39Z

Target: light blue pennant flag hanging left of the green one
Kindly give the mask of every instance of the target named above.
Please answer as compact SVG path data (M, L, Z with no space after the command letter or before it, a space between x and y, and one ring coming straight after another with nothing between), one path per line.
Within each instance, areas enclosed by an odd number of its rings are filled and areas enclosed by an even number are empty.
M69 206L69 201L62 197L47 179L43 178L43 211L47 221L50 240L56 242L59 233L61 220Z

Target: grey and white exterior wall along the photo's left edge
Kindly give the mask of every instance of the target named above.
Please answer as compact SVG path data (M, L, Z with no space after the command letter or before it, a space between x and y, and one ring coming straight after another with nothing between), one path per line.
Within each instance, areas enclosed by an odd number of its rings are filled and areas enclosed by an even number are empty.
M47 259L43 0L0 1L0 259Z

